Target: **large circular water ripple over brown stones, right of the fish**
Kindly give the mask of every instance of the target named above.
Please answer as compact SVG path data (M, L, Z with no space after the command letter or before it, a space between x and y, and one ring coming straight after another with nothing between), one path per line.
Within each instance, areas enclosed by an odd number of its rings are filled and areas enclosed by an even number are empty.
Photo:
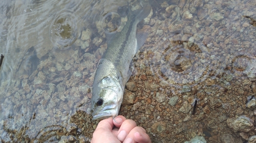
M192 34L170 33L157 42L152 52L151 70L173 86L197 84L209 74L211 57L208 48Z

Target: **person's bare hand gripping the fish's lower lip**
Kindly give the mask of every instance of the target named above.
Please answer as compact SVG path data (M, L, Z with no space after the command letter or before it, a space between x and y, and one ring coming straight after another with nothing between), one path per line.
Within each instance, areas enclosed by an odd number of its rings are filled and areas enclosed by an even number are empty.
M104 119L99 122L93 133L91 143L151 143L145 129L136 122L123 116Z

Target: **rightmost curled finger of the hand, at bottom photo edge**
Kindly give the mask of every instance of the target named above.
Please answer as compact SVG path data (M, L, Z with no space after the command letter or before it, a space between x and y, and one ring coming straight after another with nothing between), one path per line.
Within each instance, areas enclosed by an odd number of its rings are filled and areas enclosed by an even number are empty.
M150 137L146 134L145 129L142 127L133 128L130 133L127 135L123 143L126 142L139 142L139 143L151 143Z

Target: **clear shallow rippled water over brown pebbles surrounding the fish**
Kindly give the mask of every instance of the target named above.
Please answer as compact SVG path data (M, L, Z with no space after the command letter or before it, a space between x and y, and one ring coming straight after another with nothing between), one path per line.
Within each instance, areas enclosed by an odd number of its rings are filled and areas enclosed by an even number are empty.
M140 5L133 2L133 8ZM254 1L150 1L120 114L153 142L243 142L228 119L247 116L256 93ZM125 1L3 1L0 4L2 142L89 142L92 83L104 31L120 31ZM121 16L120 16L121 15ZM120 18L121 17L121 18ZM132 85L132 86L130 86ZM132 88L131 88L132 87ZM135 88L134 88L135 87ZM193 111L193 102L198 105Z

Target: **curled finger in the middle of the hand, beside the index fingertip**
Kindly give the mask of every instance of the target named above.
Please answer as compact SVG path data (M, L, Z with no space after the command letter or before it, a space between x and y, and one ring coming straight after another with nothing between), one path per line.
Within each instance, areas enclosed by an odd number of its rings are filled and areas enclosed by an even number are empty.
M117 138L120 141L123 141L126 138L127 134L136 126L137 124L135 121L130 119L125 120L117 132Z

